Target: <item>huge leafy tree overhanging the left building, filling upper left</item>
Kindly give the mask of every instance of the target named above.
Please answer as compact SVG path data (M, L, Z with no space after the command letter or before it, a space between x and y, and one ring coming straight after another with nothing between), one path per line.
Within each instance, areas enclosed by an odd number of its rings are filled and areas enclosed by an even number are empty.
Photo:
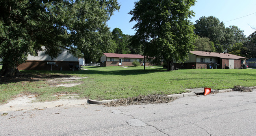
M106 22L119 8L117 0L1 0L0 75L18 75L17 65L42 46L52 58L61 47L92 59L111 51Z

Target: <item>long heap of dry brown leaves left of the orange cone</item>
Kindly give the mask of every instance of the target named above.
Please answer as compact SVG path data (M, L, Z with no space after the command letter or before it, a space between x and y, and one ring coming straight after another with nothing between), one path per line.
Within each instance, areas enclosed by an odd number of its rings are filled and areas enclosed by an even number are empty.
M154 104L154 103L169 103L175 98L168 97L162 94L149 94L147 96L139 95L132 98L119 99L116 102L106 103L106 106L127 106L127 105L139 105L139 104Z

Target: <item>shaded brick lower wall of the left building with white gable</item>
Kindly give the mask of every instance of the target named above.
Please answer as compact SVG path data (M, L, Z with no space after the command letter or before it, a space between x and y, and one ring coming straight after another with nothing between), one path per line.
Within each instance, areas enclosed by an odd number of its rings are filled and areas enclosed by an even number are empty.
M18 66L19 70L51 70L51 65L47 65L49 61L27 61L22 63ZM59 71L61 68L63 71L69 71L70 67L69 64L72 63L73 65L79 65L79 62L62 62L56 61L56 65L52 65L53 71ZM57 66L58 65L58 66ZM74 67L73 67L74 68Z

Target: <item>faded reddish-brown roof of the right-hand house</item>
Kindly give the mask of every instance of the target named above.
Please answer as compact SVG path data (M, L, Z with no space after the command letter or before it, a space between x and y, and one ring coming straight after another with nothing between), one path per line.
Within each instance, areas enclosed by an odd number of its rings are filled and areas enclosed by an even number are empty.
M247 59L242 56L237 56L229 53L210 53L205 51L191 51L190 53L195 54L197 56L208 56L208 57L219 57L219 58L229 58L229 59Z

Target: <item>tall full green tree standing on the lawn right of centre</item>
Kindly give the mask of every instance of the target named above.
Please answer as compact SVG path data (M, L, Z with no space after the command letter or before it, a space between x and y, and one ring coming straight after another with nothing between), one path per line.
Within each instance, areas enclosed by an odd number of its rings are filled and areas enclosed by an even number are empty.
M130 22L136 21L136 38L144 48L144 55L155 60L164 59L167 71L174 70L174 60L184 62L193 50L196 35L188 20L195 0L139 0L135 2Z

